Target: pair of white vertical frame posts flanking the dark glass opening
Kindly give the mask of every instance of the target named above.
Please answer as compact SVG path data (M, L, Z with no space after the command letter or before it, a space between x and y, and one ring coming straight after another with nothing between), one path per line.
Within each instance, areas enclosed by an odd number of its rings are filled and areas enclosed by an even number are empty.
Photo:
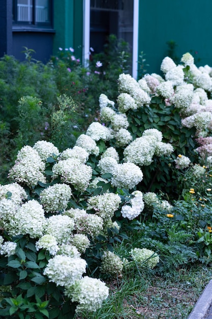
M138 75L138 11L139 0L133 0L133 55L132 76L137 79ZM88 65L90 52L90 0L83 1L83 64Z

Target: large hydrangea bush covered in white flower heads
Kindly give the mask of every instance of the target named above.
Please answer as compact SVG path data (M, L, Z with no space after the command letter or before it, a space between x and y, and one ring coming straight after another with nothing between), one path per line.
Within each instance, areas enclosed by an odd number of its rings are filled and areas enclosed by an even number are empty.
M186 54L179 65L166 57L161 71L139 81L120 74L116 101L100 95L99 120L73 148L43 140L19 150L11 183L0 185L0 284L11 287L2 317L96 311L109 294L104 280L120 276L125 264L157 269L160 248L147 249L148 238L127 256L114 243L127 238L126 225L141 229L146 212L176 221L168 196L184 195L181 176L202 179L203 163L212 162L211 69Z

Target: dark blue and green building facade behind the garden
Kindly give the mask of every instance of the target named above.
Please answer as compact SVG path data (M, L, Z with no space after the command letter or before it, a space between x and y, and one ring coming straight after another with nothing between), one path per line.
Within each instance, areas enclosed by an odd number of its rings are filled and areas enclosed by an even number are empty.
M86 63L90 47L101 51L115 34L129 43L134 77L141 51L147 72L160 72L167 43L179 59L190 51L212 65L210 0L0 0L0 8L0 57L24 60L27 47L45 63L58 47L72 47Z

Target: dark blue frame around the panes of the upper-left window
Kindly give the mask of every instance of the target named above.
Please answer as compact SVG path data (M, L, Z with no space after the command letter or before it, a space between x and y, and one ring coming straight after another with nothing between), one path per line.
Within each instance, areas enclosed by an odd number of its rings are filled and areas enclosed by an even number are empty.
M18 0L13 0L13 26L15 29L20 27L21 29L53 29L53 0L48 0L48 14L49 22L37 22L36 21L36 0L32 0L33 14L32 21L18 21Z

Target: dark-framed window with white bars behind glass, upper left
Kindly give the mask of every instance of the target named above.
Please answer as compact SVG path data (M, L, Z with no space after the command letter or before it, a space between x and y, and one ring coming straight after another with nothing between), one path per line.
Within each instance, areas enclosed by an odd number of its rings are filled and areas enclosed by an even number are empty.
M15 24L51 25L50 0L13 0Z

